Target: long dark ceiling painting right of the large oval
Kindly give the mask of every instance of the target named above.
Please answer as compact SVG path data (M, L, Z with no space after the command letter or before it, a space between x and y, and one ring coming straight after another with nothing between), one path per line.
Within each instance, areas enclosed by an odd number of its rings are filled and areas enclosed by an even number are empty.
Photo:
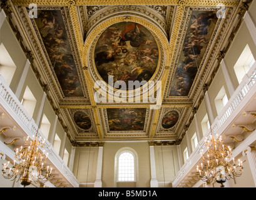
M217 23L216 11L193 11L170 96L188 96Z

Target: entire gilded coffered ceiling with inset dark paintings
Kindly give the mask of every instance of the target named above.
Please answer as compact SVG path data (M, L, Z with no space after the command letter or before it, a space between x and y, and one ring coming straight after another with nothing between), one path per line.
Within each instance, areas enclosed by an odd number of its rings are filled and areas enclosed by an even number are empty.
M29 17L32 3L36 17ZM74 145L178 144L244 5L235 0L14 0L11 8L29 41L32 67L42 86L49 86L48 99ZM113 84L145 81L158 90L113 88L109 77ZM101 88L98 97L106 101L97 100L95 83L112 89ZM112 95L118 92L126 95L120 102ZM150 95L160 104L143 101ZM136 101L129 101L131 96Z

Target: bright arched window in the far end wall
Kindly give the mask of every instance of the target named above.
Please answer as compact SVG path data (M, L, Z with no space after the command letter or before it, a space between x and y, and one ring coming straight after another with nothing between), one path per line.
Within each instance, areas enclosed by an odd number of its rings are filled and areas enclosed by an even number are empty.
M135 181L135 156L130 151L118 156L118 181Z

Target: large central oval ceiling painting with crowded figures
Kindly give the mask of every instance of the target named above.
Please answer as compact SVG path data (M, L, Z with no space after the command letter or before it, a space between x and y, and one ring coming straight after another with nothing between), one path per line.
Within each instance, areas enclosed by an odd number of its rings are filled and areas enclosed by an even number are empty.
M110 86L116 88L116 81L120 85L125 83L126 88L116 89L134 89L129 87L128 81L140 81L143 85L151 79L158 65L155 37L135 22L113 24L98 39L95 64L101 78Z

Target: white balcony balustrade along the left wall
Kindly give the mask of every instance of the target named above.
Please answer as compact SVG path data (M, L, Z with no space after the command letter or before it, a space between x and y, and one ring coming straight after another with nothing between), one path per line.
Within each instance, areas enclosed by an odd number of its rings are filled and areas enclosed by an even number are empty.
M16 121L18 126L23 129L24 133L33 138L38 131L38 125L35 123L34 119L29 116L26 109L23 108L23 105L19 102L19 99L15 96L13 91L9 88L8 84L4 80L3 76L0 74L0 104L6 110L6 112L11 116L11 118ZM48 139L45 138L44 134L39 130L38 133L43 139L45 139L44 149L48 152L48 159L53 164L53 169L59 171L59 173L64 176L65 179L73 186L79 187L79 181L75 178L71 170L64 164L63 159L56 153L53 148L53 145L49 143ZM6 146L4 144L4 146ZM4 148L1 145L1 148ZM8 151L6 146L6 152L8 153L9 158L14 158L14 151ZM12 152L12 153L11 153ZM13 154L13 155L12 155Z

